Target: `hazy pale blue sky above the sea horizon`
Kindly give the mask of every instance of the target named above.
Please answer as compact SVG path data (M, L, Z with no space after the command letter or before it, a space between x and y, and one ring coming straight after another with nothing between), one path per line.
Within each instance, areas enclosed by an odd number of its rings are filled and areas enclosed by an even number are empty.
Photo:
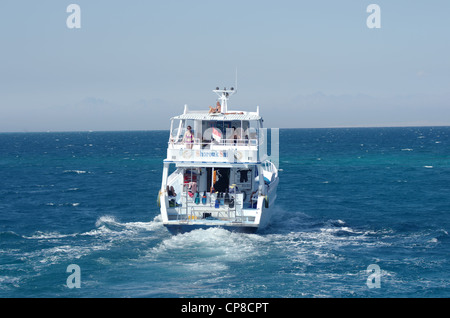
M0 131L168 129L236 68L229 108L259 105L266 126L450 125L449 15L448 0L1 0Z

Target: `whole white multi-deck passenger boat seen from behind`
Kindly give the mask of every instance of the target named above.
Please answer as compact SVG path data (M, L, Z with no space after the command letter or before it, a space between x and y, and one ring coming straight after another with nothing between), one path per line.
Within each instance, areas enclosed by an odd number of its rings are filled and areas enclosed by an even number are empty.
M277 197L278 130L270 138L258 106L228 110L233 88L213 92L216 108L185 105L171 118L158 204L174 234L209 227L255 232L269 224Z

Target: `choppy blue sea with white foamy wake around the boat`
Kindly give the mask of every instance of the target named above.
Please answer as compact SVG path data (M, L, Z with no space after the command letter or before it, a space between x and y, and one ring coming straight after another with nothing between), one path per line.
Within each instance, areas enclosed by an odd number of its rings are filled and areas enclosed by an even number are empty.
M256 234L163 227L167 139L0 134L0 297L450 297L450 127L281 129Z

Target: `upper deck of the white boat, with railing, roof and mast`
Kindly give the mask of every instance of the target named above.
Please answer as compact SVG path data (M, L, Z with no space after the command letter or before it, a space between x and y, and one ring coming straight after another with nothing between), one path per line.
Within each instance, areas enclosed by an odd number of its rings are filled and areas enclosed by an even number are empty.
M165 162L189 165L248 165L267 158L266 130L256 112L228 111L234 90L215 90L217 109L189 111L171 118ZM216 110L216 112L213 112ZM189 129L188 129L189 128Z

